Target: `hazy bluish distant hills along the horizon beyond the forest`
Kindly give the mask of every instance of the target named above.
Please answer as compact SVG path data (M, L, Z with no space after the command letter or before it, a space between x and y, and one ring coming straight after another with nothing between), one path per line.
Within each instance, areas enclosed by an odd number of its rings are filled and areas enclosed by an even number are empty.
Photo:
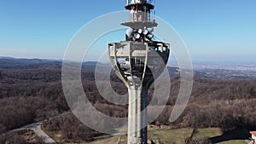
M43 59L15 59L11 57L0 57L0 69L61 69L61 60L43 60ZM108 72L110 64L103 64L97 61L86 61L82 65L85 71L95 71L96 66L100 67L101 72ZM177 67L167 67L171 78L180 76L180 69ZM195 77L197 78L218 78L218 79L250 79L256 78L256 72L245 67L239 70L218 68L201 68L196 69Z

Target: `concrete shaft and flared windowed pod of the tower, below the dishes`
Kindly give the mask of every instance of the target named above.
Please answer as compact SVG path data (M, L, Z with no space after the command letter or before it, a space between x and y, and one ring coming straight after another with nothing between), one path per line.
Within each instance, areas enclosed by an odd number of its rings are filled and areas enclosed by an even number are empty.
M108 44L113 70L128 88L128 144L147 144L148 88L165 69L169 47L161 42Z

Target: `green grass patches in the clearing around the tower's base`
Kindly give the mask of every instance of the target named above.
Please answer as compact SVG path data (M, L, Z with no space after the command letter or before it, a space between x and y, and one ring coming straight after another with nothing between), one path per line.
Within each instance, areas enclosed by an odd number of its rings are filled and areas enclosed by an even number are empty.
M184 138L189 137L192 133L193 129L191 128L184 128L184 129L170 129L164 128L159 129L156 126L151 126L148 128L148 140L160 140L164 142L164 144L183 144ZM49 133L48 133L49 134ZM218 128L206 128L206 129L199 129L195 134L195 139L197 138L209 138L221 135L221 131ZM60 142L60 136L56 136L51 134L53 138ZM119 141L119 138L122 137L122 140L126 141L125 135L104 135L101 137L96 137L95 141L90 142L83 142L84 144L113 144ZM126 142L125 142L126 143ZM218 144L247 144L248 141L245 140L234 140L234 141L224 141L219 142Z

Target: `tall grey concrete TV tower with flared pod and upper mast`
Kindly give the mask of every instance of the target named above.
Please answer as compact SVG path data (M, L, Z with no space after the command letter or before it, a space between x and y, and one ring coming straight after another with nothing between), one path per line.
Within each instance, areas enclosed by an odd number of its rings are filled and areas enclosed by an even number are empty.
M153 0L126 0L131 20L125 41L108 43L108 56L114 72L129 93L127 144L147 144L148 89L166 67L170 44L154 41Z

